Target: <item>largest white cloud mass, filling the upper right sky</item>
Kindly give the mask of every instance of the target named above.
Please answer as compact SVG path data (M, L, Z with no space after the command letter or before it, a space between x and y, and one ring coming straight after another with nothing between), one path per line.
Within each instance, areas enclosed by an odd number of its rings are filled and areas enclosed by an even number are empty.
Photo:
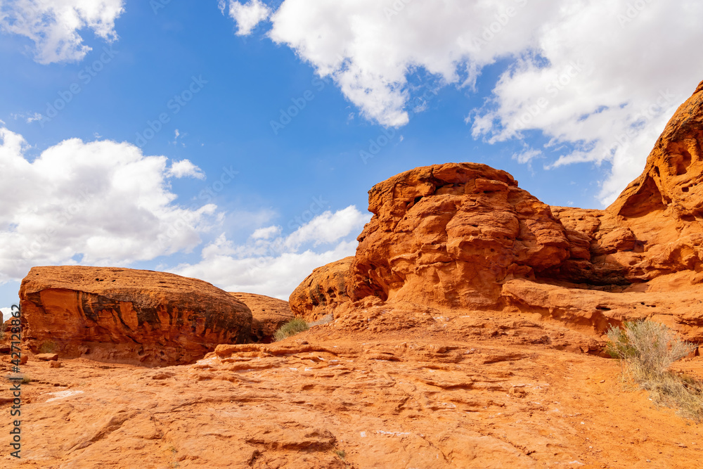
M703 79L690 56L703 42L700 18L699 0L283 0L269 37L393 127L423 88L471 93L486 65L505 60L489 100L467 116L473 136L537 131L549 139L546 167L609 163L607 204Z

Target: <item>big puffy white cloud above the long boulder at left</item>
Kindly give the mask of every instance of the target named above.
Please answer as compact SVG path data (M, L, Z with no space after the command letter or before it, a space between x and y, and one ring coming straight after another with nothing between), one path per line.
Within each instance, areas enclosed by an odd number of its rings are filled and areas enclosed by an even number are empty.
M188 252L220 215L212 204L176 203L169 178L202 174L187 160L169 167L165 156L109 140L65 140L34 160L27 149L0 127L0 174L11 187L0 195L0 282L35 265L128 265Z

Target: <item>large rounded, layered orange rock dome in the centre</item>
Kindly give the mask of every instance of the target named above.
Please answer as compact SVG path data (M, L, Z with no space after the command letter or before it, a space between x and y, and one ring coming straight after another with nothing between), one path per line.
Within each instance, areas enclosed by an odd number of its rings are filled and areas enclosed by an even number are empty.
M448 163L398 174L369 191L373 218L359 236L352 300L485 307L508 276L569 257L564 226L510 174Z

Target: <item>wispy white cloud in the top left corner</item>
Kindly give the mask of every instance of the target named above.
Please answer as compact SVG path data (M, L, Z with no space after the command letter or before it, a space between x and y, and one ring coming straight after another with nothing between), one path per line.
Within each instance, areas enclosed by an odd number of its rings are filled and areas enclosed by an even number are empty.
M42 64L81 60L91 51L82 30L115 41L115 20L123 0L2 0L0 30L34 42L34 60Z

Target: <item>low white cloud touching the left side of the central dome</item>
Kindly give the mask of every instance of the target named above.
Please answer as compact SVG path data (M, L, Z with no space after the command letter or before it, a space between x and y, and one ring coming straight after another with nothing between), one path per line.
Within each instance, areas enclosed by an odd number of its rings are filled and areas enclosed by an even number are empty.
M181 264L175 274L202 278L227 291L288 296L313 269L354 255L356 236L370 214L349 206L323 212L288 236L280 227L254 231L250 240L236 245L222 234L202 249L198 264ZM316 249L314 249L316 248Z

